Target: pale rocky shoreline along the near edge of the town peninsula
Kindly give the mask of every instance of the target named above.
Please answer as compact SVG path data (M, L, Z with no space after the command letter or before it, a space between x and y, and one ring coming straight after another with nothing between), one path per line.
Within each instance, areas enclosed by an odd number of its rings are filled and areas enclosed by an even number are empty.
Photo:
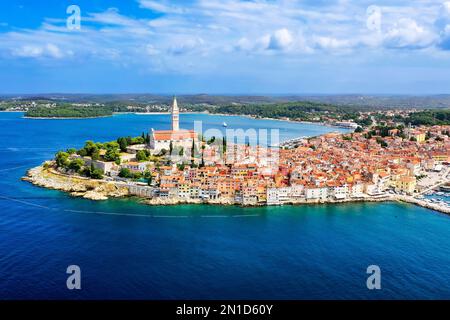
M101 201L109 198L124 198L133 196L126 183L112 182L106 180L93 180L80 176L71 176L60 173L55 169L45 166L39 166L28 170L27 176L22 180L28 181L34 185L47 189L60 190L70 193L74 197L82 197L85 199ZM208 204L208 205L235 205L233 199L222 198L217 200L204 201L201 199L184 199L184 198L141 198L143 204L152 206L167 206L181 204ZM438 204L432 204L411 196L389 195L379 198L360 198L346 200L298 200L289 201L285 205L320 205L320 204L344 204L356 202L387 202L399 201L415 204L434 211L450 214L450 209ZM264 206L264 204L253 205Z

